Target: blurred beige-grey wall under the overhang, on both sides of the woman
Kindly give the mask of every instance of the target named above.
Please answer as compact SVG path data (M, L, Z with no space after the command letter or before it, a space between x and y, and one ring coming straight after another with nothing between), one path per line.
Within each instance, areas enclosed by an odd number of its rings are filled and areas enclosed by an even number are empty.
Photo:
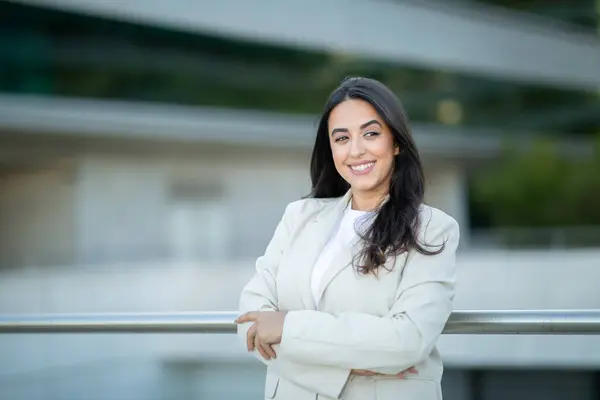
M235 260L267 244L285 205L308 194L304 151L198 147L80 155L70 170L1 182L3 265ZM429 204L461 223L465 186L456 164L428 169Z

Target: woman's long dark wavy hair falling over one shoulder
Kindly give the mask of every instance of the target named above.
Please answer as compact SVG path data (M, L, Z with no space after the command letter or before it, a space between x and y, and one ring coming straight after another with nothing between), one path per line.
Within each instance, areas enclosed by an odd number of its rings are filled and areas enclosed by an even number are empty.
M363 274L377 274L385 268L388 257L396 257L410 249L433 255L419 243L419 208L425 194L425 178L421 159L408 127L408 117L396 95L384 84L369 78L346 78L331 93L321 116L310 162L312 191L309 197L343 196L350 185L337 172L329 143L328 121L331 111L347 99L361 99L371 104L389 127L394 142L400 147L394 160L389 199L378 209L372 223L359 233L364 246L353 263Z

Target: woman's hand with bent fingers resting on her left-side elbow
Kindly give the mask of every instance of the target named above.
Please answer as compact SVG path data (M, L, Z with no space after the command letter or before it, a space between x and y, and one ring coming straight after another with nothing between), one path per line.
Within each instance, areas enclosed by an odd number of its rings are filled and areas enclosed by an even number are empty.
M276 358L272 345L281 342L285 314L283 311L251 311L240 315L236 324L254 322L246 335L248 351L256 349L266 360Z

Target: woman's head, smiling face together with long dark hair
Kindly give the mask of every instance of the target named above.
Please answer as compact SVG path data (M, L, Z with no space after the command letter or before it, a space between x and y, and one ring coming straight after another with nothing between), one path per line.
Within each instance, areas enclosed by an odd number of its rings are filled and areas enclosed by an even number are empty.
M351 189L353 209L380 207L361 235L363 272L375 271L387 256L408 247L433 254L416 240L425 195L419 153L402 104L382 83L350 78L330 96L317 132L311 178L312 197L341 197Z

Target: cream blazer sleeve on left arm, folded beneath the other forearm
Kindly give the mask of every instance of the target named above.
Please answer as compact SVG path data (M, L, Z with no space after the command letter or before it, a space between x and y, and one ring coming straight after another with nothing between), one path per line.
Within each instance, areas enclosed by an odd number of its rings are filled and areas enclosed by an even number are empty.
M290 241L290 219L293 207L290 204L279 222L275 234L263 256L256 261L256 272L244 287L240 296L239 311L278 311L277 269L281 255ZM252 323L238 325L238 337L246 346L246 335ZM319 365L318 360L292 360L280 354L278 345L274 346L276 359L265 360L258 351L253 354L277 375L307 390L338 398L350 375L349 368L334 365Z

